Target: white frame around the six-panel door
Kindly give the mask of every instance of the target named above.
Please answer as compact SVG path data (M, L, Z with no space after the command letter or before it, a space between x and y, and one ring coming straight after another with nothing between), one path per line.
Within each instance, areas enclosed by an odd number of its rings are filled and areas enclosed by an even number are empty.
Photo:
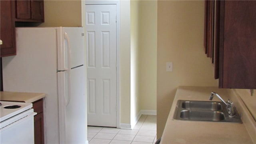
M90 4L116 4L116 127L120 128L120 1L86 0ZM86 29L86 28L85 28ZM87 49L87 48L86 48Z

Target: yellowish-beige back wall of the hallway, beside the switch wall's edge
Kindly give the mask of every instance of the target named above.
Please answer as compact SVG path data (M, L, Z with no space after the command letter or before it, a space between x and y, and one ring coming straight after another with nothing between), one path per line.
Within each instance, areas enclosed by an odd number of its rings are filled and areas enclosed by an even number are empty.
M141 0L140 110L156 111L157 0Z

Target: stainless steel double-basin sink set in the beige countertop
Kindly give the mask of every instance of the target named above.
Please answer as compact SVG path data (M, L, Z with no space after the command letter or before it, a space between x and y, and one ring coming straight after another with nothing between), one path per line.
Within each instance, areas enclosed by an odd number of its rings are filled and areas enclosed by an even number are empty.
M178 100L173 120L242 123L236 110L235 113L230 118L223 102Z

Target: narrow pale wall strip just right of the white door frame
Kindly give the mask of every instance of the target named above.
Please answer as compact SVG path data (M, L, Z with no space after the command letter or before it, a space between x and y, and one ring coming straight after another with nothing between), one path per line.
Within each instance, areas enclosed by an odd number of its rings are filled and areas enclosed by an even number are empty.
M130 124L130 0L120 1L120 123Z

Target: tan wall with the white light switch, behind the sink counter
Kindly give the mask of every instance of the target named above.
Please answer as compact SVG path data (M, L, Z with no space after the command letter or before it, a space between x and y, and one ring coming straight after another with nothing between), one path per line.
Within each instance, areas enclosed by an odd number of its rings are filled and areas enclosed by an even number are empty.
M157 137L178 86L218 86L204 54L204 1L158 1ZM173 62L173 72L166 72Z

